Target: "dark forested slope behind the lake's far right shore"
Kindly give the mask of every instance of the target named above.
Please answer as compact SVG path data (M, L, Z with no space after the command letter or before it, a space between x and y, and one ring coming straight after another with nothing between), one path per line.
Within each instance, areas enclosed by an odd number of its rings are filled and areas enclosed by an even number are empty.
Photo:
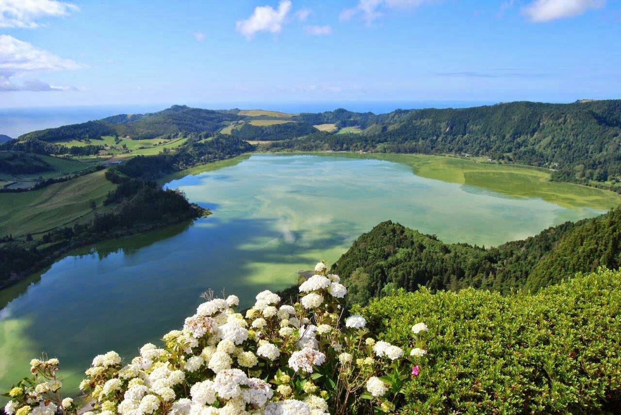
M464 109L345 110L301 114L309 123L360 125L355 135L313 135L271 148L387 153L469 153L558 169L553 179L621 181L621 100L510 102Z

